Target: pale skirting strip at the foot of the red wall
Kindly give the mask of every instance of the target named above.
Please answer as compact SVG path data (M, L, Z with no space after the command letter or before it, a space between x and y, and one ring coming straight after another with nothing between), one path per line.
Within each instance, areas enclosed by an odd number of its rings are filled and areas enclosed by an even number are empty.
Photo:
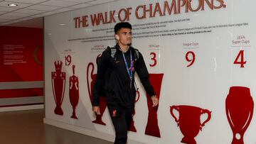
M44 104L35 104L35 105L28 105L28 106L1 107L0 112L4 112L4 111L23 111L23 110L30 110L30 109L44 109Z

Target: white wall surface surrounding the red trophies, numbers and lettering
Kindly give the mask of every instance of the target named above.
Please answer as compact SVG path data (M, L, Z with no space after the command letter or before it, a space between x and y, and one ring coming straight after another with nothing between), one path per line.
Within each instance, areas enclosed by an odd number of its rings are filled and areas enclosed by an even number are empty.
M219 1L213 1L215 6L220 5ZM134 116L137 133L130 132L129 139L148 144L180 143L183 135L171 116L170 106L189 105L212 111L210 121L196 136L197 143L231 143L233 133L225 113L225 99L230 87L248 87L252 99L255 99L256 95L256 45L254 43L256 2L224 0L225 6L212 10L205 1L204 10L186 12L185 5L181 6L181 12L176 11L176 14L172 11L169 15L166 10L165 16L159 16L159 11L151 18L149 18L149 12L146 12L146 18L143 19L135 15L138 6L146 5L146 9L149 9L149 4L152 4L154 11L158 3L164 13L165 2L123 0L47 16L45 18L46 121L58 122L60 127L68 124L73 126L73 131L84 128L85 131L97 133L95 134L97 137L107 134L114 138L114 130L107 109L102 117L106 126L91 122L95 116L92 113L87 92L86 72L89 62L96 65L95 59L103 48L114 45L113 29L110 29L110 33L107 29L113 28L115 23L100 23L99 26L92 26L90 15L103 13L105 16L107 11L115 11L115 15L118 15L120 10L132 8L129 14L129 23L132 23L134 33L132 45L144 55L149 73L164 73L164 79L158 109L161 138L144 134L148 109L146 94L139 85L141 98L136 104ZM171 6L171 1L168 2ZM196 9L198 1L192 0L191 6ZM120 14L121 17L124 16L123 12ZM138 13L142 16L142 9L139 9ZM75 28L73 18L82 16L88 16L89 26ZM114 19L119 22L118 16L114 16ZM60 26L60 23L65 23L65 26ZM108 38L110 40L107 40ZM234 44L233 40L240 43ZM247 61L243 68L233 64L240 50L244 50L244 59ZM188 51L193 51L196 55L196 60L190 67L186 67L190 63L186 61ZM151 52L157 54L157 64L154 67L149 66L154 63L154 60L151 60L153 57L150 55ZM67 55L72 57L69 66L65 65ZM188 58L191 59L191 55L188 55ZM61 106L63 116L54 113L51 72L55 72L53 62L56 60L63 62L62 71L66 73L65 95ZM75 65L75 75L79 78L80 97L76 107L78 119L70 118L72 107L69 100L68 81L72 75L72 65ZM201 121L206 119L206 115L201 119ZM245 143L256 143L256 138L253 136L255 133L256 123L253 116L244 135Z

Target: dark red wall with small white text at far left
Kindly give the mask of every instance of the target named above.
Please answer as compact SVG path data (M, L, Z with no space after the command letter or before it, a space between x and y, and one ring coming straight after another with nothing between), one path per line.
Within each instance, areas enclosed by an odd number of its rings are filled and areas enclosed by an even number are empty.
M0 26L0 82L43 81L43 29ZM43 95L43 89L0 90L0 98Z

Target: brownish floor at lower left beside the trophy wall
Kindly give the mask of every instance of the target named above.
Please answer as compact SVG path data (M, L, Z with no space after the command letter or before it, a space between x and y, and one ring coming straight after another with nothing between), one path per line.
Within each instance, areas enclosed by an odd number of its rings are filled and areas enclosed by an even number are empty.
M111 144L43 123L44 109L0 113L3 144Z

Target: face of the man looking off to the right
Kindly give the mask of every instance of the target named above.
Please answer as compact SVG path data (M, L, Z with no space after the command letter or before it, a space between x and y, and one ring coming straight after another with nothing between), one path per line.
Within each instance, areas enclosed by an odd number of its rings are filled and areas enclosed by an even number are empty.
M121 45L131 45L132 44L132 30L129 28L121 28L117 31L115 37L118 43Z

